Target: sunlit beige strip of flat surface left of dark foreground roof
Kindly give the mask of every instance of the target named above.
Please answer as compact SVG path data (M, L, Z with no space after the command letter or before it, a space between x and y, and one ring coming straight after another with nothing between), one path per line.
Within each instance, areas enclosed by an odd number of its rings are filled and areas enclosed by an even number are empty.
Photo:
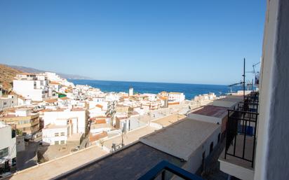
M51 160L45 162L41 165L36 165L28 169L16 172L13 176L7 177L5 179L11 180L43 180L52 179L64 172L72 170L80 165L83 165L91 160L100 158L107 152L103 151L98 146L91 146L89 148L83 149L71 155L67 155L56 160Z

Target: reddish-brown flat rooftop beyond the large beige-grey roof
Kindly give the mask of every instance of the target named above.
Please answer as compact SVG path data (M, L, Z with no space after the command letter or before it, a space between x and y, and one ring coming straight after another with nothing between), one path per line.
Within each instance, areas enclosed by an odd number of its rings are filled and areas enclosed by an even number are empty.
M197 111L194 111L193 113L204 115L204 116L213 116L215 118L223 118L224 113L227 112L227 107L222 106L203 106L202 109L199 109Z

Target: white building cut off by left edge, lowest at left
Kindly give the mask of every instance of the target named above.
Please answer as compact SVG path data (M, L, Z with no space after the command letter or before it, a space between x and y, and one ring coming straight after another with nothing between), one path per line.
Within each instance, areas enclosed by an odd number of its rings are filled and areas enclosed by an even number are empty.
M10 125L0 122L0 175L16 164L16 132Z

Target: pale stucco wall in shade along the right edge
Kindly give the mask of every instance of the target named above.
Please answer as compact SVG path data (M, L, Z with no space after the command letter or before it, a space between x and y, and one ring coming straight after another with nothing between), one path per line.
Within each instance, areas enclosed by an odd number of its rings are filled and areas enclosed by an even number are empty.
M255 179L289 177L289 1L267 1Z

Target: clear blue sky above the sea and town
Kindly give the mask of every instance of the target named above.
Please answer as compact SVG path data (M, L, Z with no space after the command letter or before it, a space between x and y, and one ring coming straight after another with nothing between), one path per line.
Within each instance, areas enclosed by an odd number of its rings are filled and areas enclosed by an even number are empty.
M99 80L230 84L260 61L262 1L0 1L0 63ZM252 78L248 74L248 78Z

